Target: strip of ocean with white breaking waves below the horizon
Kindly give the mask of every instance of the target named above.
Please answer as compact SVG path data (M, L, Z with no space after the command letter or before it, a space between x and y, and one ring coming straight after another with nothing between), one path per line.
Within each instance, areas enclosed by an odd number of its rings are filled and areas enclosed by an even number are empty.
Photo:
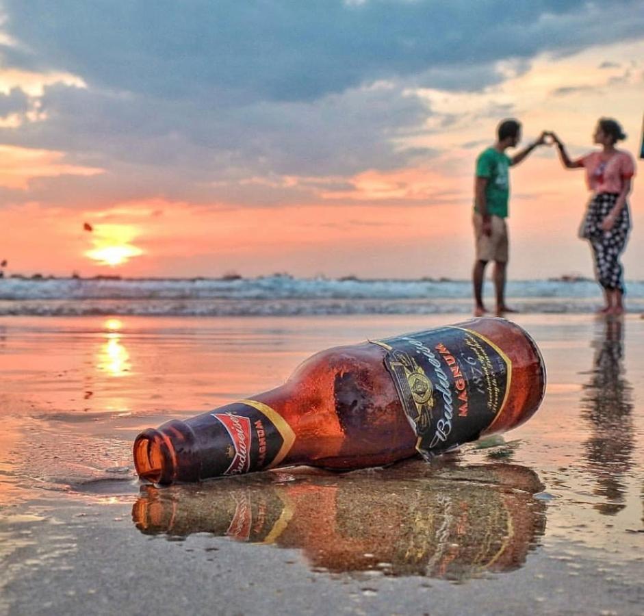
M627 282L627 307L644 311L644 281ZM486 282L493 308L493 286ZM508 281L508 304L527 313L591 313L602 304L587 279ZM472 311L469 280L111 277L0 279L0 316L306 316Z

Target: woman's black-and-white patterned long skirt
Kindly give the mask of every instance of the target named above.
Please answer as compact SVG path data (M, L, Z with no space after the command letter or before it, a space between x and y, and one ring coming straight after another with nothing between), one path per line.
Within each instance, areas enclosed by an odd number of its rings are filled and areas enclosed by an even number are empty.
M595 257L595 272L597 281L604 289L625 292L623 267L619 257L626 248L628 232L630 231L630 213L628 203L625 203L615 219L613 229L602 230L602 222L615 202L617 194L601 192L596 194L588 205L586 216L582 223L582 237L589 240Z

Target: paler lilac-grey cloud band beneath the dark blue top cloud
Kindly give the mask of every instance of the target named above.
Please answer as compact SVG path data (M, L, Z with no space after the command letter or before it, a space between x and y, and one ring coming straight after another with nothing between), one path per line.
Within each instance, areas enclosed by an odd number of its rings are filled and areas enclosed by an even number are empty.
M137 198L145 186L168 198L192 193L217 200L235 198L231 186L249 177L350 176L436 155L427 147L398 145L431 110L424 99L387 84L314 102L267 101L218 112L201 101L123 97L61 84L46 87L40 103L55 122L0 128L0 142L66 151L69 162L99 166L107 175L89 185L83 179L32 181L32 198L72 199L71 189L85 198L94 185L118 200ZM110 190L116 178L121 188ZM272 202L270 193L266 186L246 185L240 198Z

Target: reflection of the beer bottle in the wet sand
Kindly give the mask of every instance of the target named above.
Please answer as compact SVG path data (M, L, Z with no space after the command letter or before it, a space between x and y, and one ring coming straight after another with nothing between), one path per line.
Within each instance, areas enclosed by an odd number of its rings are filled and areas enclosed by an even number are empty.
M414 461L367 476L248 476L142 487L146 534L211 532L304 552L315 569L463 580L517 569L545 528L532 470L491 464L428 470ZM288 477L293 478L293 477Z

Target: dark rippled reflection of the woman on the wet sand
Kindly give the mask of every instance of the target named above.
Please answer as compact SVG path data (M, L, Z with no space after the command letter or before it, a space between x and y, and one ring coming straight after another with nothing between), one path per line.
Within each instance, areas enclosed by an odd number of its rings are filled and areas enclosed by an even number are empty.
M595 509L615 515L626 504L624 476L634 447L632 387L624 376L623 323L608 320L595 339L595 358L589 382L583 386L582 418L592 435L585 444L588 467L597 478L595 494L606 500Z

